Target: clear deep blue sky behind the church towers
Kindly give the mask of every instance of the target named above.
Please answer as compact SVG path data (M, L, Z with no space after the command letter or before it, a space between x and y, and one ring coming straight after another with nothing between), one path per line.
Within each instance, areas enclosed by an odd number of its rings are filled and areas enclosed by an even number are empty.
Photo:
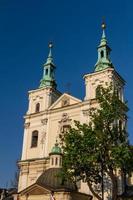
M116 70L126 80L133 143L133 1L0 0L0 187L10 185L20 159L27 92L36 89L53 41L58 89L84 97L85 73L94 70L101 21Z

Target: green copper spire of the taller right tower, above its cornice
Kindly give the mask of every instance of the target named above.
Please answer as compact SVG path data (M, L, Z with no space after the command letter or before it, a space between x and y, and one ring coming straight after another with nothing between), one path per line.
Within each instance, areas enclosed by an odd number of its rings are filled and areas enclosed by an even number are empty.
M102 37L101 37L100 45L97 48L98 60L97 60L97 63L95 64L95 72L104 70L108 67L113 67L113 64L110 60L111 49L108 46L105 29L106 29L106 24L103 22L102 23Z

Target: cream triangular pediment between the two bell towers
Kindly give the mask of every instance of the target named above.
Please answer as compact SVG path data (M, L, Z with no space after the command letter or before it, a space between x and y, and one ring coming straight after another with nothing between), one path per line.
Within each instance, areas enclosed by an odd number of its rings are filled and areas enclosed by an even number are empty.
M55 101L49 108L49 110L52 109L57 109L57 108L63 108L66 106L78 104L82 102L80 99L73 97L67 93L64 93L63 95L60 96L60 98Z

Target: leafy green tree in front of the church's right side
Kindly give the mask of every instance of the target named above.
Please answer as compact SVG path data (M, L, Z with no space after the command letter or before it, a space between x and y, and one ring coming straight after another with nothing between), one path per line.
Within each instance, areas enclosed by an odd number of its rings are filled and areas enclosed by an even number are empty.
M61 135L63 172L73 182L85 181L99 200L108 189L104 187L108 179L112 200L116 200L117 171L122 175L133 170L126 130L128 108L112 86L99 86L96 100L99 106L90 109L89 124L75 121L75 127Z

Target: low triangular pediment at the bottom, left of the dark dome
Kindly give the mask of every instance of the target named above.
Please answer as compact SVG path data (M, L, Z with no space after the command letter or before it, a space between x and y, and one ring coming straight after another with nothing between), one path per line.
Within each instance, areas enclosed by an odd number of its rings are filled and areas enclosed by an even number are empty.
M20 195L26 195L26 194L28 195L50 194L50 190L35 183L20 192Z

